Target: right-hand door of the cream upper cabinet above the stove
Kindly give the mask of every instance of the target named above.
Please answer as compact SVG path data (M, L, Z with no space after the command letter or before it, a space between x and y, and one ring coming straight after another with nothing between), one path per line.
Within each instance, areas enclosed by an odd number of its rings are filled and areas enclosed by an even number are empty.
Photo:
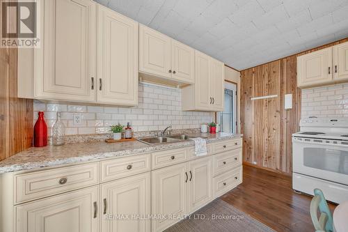
M333 46L333 80L348 80L348 42Z

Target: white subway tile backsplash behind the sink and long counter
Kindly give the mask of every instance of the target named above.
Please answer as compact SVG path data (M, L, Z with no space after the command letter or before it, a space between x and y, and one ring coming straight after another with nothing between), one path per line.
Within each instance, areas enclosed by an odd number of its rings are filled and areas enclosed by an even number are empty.
M198 128L201 123L209 123L214 120L212 112L182 111L180 89L148 84L139 84L139 105L137 107L103 107L95 104L67 105L35 100L34 120L38 118L38 111L45 111L49 132L52 131L52 126L56 121L56 111L61 111L63 123L67 127L66 134L106 133L110 131L111 125L117 123L122 125L130 123L136 132L164 130L168 125L173 125L173 129L177 130ZM81 114L81 125L74 125L74 114Z

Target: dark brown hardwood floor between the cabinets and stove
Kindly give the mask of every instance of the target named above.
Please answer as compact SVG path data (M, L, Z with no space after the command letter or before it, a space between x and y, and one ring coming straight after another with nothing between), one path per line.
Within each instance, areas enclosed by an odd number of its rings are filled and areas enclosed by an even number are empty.
M243 167L243 183L221 196L223 201L276 231L314 231L311 196L296 194L290 176ZM331 212L335 205L329 203Z

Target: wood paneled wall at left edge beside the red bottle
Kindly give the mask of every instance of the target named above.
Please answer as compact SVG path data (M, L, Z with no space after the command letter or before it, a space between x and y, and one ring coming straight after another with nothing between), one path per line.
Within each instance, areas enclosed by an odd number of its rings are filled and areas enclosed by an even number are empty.
M0 48L0 160L32 141L33 100L17 98L17 49Z

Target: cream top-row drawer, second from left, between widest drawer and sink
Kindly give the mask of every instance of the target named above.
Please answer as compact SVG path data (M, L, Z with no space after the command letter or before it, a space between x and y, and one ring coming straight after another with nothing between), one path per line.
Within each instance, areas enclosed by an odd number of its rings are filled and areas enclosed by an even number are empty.
M150 154L101 162L102 182L150 171Z

